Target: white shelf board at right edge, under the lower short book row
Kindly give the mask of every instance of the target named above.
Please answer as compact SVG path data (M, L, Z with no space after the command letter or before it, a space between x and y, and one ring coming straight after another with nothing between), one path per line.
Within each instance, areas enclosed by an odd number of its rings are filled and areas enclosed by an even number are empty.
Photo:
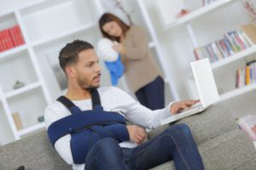
M250 92L254 89L256 89L256 83L249 84L249 85L244 86L242 88L236 88L235 90L232 90L228 93L220 95L220 100L224 101L226 99L231 99L231 98L234 98L234 97L239 96L241 94L245 94L247 92Z

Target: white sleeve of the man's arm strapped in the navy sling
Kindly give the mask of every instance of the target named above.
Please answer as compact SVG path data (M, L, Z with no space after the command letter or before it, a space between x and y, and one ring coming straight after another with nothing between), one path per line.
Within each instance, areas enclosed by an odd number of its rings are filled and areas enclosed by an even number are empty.
M55 103L55 105L48 106L44 111L46 127L48 128L51 123L68 115L70 115L69 111L61 104ZM55 142L55 150L67 164L73 164L70 140L71 135L67 134Z

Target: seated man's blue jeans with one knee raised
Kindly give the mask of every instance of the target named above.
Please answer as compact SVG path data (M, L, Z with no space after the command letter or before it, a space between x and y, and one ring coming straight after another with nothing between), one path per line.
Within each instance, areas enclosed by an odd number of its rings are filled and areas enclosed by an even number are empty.
M163 133L135 148L120 148L116 140L99 140L85 159L84 170L146 170L173 160L177 170L204 169L201 156L185 124L166 128Z

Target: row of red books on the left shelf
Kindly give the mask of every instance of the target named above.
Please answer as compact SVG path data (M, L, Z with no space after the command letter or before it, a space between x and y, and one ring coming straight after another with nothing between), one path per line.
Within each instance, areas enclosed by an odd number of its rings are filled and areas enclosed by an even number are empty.
M20 31L20 26L16 25L0 31L0 53L24 43L25 41Z

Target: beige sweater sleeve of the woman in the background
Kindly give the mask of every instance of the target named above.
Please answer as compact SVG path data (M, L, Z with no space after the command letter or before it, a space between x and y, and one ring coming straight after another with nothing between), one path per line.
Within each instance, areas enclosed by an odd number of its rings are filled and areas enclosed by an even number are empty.
M127 34L127 36L130 36L128 41L131 41L132 46L125 46L125 58L143 59L147 56L148 41L143 29L138 26L132 26L131 32L130 34Z

